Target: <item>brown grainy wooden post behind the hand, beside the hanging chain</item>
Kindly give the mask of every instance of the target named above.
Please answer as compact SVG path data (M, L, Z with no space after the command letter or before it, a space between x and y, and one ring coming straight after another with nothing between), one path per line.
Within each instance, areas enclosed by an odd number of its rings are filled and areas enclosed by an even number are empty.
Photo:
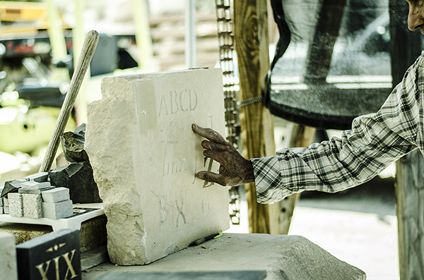
M261 96L269 70L269 35L266 0L235 0L235 50L240 101ZM251 159L275 155L273 117L261 102L240 108L243 156ZM278 233L278 205L257 203L254 184L245 185L251 233ZM271 217L271 219L270 219Z

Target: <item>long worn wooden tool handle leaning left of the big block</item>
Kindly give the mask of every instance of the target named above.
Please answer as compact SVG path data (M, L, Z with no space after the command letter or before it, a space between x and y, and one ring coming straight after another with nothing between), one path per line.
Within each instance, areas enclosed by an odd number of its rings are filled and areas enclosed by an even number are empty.
M61 133L64 133L66 123L69 120L73 104L75 104L76 96L83 83L84 76L86 75L88 66L90 66L91 59L97 44L99 42L99 33L95 30L88 32L86 39L84 40L83 48L81 49L81 55L78 59L75 72L73 72L71 83L69 85L69 91L66 94L64 104L61 106L59 118L57 118L56 126L53 130L52 138L50 139L49 145L45 157L40 166L40 172L49 171L52 166L54 156L59 146L59 138Z

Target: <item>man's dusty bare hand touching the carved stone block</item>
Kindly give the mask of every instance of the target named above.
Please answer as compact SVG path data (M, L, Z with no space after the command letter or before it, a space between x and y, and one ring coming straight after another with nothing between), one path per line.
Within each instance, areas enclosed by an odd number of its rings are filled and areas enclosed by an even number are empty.
M204 156L210 157L220 164L219 174L200 171L196 177L224 186L235 186L254 181L252 162L242 157L230 142L225 141L222 135L211 128L202 128L195 123L192 125L194 133L207 140L201 142L204 147Z

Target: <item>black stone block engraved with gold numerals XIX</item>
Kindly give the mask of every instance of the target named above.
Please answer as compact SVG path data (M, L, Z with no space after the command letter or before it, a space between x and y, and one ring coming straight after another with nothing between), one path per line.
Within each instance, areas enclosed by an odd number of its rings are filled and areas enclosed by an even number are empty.
M81 280L79 233L61 229L16 246L19 279Z

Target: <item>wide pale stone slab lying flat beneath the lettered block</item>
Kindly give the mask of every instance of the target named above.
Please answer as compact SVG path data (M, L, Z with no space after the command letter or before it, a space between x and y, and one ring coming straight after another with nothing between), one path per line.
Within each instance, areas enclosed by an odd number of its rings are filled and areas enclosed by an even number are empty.
M128 280L131 273L137 272L205 272L206 275L198 279L210 279L206 277L208 272L252 270L265 270L265 280L367 279L363 270L339 260L307 238L256 233L224 233L220 238L189 247L149 265L129 268L105 262L90 272L82 272L82 277L84 280L100 280L103 279L101 275L112 276L121 272L125 275L111 278ZM145 278L139 275L135 279Z

